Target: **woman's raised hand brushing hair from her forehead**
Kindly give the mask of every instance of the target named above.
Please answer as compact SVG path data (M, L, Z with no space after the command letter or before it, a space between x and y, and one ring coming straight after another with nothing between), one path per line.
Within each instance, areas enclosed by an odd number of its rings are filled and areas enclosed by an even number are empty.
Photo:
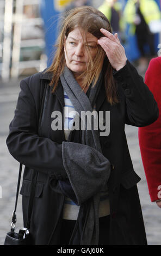
M109 59L110 64L114 69L119 70L126 65L125 49L120 43L117 33L113 35L106 29L101 28L101 33L104 34L102 38L98 39L97 43L101 45Z

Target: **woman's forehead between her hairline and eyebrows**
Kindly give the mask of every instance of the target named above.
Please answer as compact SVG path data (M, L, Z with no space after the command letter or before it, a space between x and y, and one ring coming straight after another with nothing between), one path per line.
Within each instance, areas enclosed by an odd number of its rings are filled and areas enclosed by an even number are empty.
M94 41L94 42L97 42L97 38L96 36L92 35L91 33L89 32L85 32L83 31L82 29L80 28L75 28L73 29L69 35L67 36L67 38L71 38L71 39L75 39L77 41L82 41L83 40L83 36L84 36L84 39L88 42L90 41Z

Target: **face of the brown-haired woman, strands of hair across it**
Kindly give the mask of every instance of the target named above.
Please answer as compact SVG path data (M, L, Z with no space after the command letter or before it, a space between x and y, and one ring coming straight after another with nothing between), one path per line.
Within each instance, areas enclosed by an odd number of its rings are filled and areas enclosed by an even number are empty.
M67 36L64 46L66 65L75 75L80 75L87 69L90 59L87 47L92 59L95 58L97 40L94 35L87 33L86 41L84 42L79 28L75 28Z

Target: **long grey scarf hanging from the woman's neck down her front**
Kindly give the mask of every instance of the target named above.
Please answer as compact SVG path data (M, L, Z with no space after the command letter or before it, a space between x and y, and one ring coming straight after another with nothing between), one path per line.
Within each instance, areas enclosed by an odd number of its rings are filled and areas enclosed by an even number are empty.
M81 117L81 111L93 111L96 97L101 87L102 75L89 97L75 80L66 66L60 76L61 84ZM102 154L98 130L82 130L82 144L63 142L63 164L80 205L77 223L73 231L71 245L98 245L100 192L110 175L110 163ZM61 182L60 182L61 184ZM84 190L84 191L83 191ZM78 242L79 237L79 242Z

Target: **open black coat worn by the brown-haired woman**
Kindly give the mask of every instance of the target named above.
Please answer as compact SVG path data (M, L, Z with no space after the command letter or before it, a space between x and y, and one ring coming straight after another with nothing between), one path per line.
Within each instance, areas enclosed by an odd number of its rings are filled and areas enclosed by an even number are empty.
M59 83L55 93L48 86L51 74L42 72L21 81L15 117L10 124L7 145L10 154L24 164L23 218L27 221L27 208L32 170L38 170L31 233L35 245L59 245L64 195L52 190L55 184L66 179L61 155L64 131L51 129L53 111L63 113L63 87ZM108 180L110 200L110 244L146 245L143 216L137 190L139 176L134 172L125 135L125 124L146 126L158 118L157 103L144 84L143 78L127 61L115 72L119 103L110 105L104 87L96 100L96 111L110 111L109 136L100 137L103 155L112 163ZM41 131L38 120L44 87L47 87L45 113ZM39 127L40 128L40 127Z

